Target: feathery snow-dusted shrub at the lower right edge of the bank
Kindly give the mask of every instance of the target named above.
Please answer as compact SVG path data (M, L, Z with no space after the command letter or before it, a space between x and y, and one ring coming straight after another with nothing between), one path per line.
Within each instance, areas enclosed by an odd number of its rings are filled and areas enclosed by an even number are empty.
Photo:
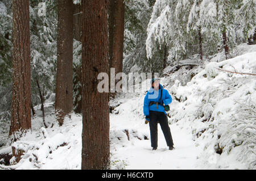
M254 98L256 92L253 92ZM251 95L249 96L251 98ZM225 145L229 152L236 146L242 146L238 159L240 161L250 160L249 168L256 166L256 104L253 100L241 100L231 120L223 120L221 125L228 125L228 129L222 134L220 144ZM254 99L255 100L255 99Z

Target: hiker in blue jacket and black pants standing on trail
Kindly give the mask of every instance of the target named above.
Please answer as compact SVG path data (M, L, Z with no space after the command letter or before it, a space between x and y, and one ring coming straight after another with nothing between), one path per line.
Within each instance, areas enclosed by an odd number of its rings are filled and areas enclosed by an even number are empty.
M162 92L162 99L161 99ZM172 102L172 97L168 90L163 89L159 83L158 78L151 80L151 89L147 91L144 97L143 112L146 117L145 123L150 125L150 140L152 150L158 148L158 123L160 124L164 138L166 138L169 150L174 149L174 142L172 141L172 134L168 125L168 118L164 106Z

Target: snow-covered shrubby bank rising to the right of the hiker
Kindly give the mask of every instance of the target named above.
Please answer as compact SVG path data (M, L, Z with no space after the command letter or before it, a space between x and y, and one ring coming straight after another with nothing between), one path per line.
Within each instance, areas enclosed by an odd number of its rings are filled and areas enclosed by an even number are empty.
M256 163L255 51L221 62L210 62L187 85L175 81L171 94L171 123L191 128L193 140L204 150L200 161L216 167L233 159L247 169ZM206 75L206 76L205 76ZM184 98L187 98L186 100ZM214 153L212 152L214 151Z

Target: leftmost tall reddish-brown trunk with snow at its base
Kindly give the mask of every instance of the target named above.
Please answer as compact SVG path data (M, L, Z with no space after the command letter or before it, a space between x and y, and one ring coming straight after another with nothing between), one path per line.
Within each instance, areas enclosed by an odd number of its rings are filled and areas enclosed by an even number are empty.
M31 130L30 11L28 0L13 0L13 99L9 135L16 141Z

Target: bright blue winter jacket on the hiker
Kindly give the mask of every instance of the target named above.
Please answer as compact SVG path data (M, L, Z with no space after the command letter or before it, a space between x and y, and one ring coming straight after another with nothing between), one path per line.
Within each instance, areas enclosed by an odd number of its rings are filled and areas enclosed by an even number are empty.
M154 102L161 102L160 96L161 96L161 90L162 92L162 100L164 105L168 105L172 102L172 97L169 94L168 90L163 89L163 86L159 83L159 90L156 91L154 88L150 88L150 90L147 91L146 96L144 97L144 106L143 106L143 113L145 116L149 116L149 111L159 111L164 112L166 114L166 111L164 111L164 107L160 104L158 104L158 109L156 109L156 104L152 104L149 106L151 101Z

